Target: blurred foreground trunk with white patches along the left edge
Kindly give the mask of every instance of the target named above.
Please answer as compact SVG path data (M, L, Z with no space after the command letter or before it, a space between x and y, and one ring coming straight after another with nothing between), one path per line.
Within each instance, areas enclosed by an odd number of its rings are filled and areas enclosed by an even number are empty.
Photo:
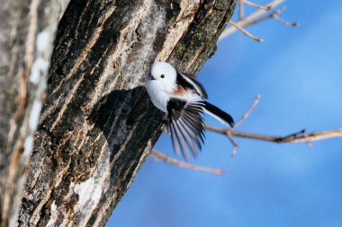
M1 1L0 225L14 225L59 18L67 0Z

